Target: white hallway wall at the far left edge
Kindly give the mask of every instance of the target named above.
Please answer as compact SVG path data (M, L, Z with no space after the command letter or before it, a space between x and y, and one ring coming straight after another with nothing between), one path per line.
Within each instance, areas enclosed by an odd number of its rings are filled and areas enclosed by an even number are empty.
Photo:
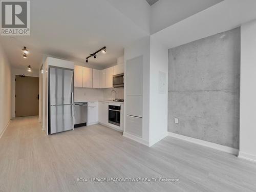
M0 137L11 119L11 65L0 45Z

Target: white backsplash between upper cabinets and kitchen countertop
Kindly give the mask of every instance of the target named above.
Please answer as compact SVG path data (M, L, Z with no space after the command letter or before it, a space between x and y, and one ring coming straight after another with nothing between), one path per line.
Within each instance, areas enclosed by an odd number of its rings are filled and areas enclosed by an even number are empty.
M115 93L111 95L111 91L115 90L116 98L123 99L123 88L106 88L106 89L92 89L92 88L75 88L75 100L113 100Z

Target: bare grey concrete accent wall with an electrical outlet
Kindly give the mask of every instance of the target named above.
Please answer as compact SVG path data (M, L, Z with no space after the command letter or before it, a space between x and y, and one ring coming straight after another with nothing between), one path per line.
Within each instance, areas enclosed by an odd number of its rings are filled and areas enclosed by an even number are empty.
M239 148L240 28L169 49L168 66L168 131Z

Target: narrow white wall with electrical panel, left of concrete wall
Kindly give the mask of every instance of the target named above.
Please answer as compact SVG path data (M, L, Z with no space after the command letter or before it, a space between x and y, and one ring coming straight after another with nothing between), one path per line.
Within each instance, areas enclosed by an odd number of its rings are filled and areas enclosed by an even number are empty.
M159 91L160 74L165 75L165 91ZM167 136L168 49L154 38L150 41L150 146Z

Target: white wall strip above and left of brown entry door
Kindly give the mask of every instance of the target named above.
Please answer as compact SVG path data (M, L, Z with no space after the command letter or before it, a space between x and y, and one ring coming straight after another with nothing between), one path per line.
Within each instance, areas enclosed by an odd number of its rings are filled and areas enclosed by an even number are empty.
M12 118L15 117L15 76L26 75L30 77L39 77L39 70L33 70L28 72L27 69L18 69L12 67Z

